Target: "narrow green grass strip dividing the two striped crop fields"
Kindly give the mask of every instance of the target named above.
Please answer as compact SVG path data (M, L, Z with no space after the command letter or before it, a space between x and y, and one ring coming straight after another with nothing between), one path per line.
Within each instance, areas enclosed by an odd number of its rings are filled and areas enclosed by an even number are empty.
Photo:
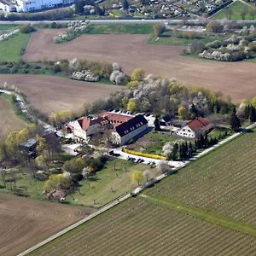
M222 215L216 214L215 212L207 211L198 207L189 206L179 201L174 201L169 197L165 196L155 196L155 195L141 195L144 201L149 201L151 203L172 209L176 212L183 212L189 214L195 218L200 218L208 223L217 224L223 228L230 230L235 230L246 234L248 236L256 237L256 227L253 225L243 224L232 218L227 218Z

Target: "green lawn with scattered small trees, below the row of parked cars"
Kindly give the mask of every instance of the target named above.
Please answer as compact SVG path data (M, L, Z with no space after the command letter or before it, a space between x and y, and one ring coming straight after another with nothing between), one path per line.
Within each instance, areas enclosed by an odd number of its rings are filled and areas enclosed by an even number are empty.
M79 182L79 192L67 197L72 204L101 207L137 187L131 181L134 170L150 169L152 177L157 176L157 170L144 164L135 164L127 160L109 160L96 178L83 179ZM114 191L114 192L113 192Z

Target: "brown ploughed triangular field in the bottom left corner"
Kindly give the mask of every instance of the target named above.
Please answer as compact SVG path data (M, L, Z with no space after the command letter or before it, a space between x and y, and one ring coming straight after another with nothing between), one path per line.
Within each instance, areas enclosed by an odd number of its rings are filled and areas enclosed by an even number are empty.
M0 255L15 255L94 210L0 194Z

